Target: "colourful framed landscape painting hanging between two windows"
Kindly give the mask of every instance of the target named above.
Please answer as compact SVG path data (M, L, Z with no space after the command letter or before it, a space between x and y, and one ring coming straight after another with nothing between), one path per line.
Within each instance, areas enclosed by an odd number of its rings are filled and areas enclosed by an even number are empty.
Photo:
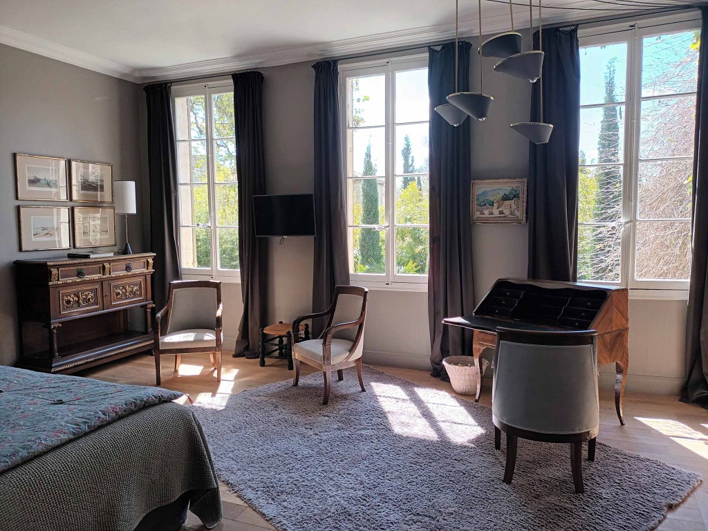
M526 222L526 179L472 181L472 223Z

